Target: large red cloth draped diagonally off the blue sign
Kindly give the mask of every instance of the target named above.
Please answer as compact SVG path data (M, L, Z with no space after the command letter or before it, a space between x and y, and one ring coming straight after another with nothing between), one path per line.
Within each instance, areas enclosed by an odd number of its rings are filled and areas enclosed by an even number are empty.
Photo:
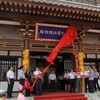
M53 63L56 58L59 50L65 46L71 45L74 43L75 38L77 37L77 29L74 26L69 26L63 37L59 41L58 45L52 50L50 55L47 57L49 63Z

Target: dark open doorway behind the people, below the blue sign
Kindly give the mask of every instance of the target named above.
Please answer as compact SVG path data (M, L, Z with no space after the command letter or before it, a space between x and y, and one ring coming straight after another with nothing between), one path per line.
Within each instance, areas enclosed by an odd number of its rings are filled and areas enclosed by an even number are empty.
M49 64L46 61L46 57L49 54L50 53L48 52L31 52L30 53L30 69L34 71L36 67L39 67L39 69L43 71L43 69L45 69L45 67L47 67ZM59 83L60 82L59 77L62 77L62 80L64 80L63 72L66 69L70 70L73 67L73 65L75 65L73 60L74 60L73 55L71 53L65 53L65 54L60 53L54 60L54 65L51 65L49 69L46 71L47 76L49 76L52 70L55 71L56 76L57 76L57 89L58 90L64 89L64 84ZM44 75L43 75L43 78L44 78Z

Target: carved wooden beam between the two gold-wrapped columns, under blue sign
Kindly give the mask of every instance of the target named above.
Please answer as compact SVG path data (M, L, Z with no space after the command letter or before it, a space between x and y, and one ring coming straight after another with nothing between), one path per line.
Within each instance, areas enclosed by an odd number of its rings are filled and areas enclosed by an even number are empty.
M30 40L30 50L31 51L39 51L39 52L51 52L54 47L58 44L58 42L40 42L40 41L33 41ZM72 52L71 46L67 46L65 48L62 48L59 52L62 53L70 53Z

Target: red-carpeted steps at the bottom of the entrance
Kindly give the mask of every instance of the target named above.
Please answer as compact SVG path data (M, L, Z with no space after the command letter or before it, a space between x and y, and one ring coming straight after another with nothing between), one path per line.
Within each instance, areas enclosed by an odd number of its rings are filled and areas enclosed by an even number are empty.
M43 93L41 96L34 96L34 100L87 100L84 94L79 93Z

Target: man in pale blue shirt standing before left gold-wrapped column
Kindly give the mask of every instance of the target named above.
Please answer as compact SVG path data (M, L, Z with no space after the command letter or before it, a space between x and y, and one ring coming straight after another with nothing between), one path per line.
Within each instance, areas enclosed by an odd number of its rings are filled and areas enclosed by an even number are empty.
M19 71L18 71L18 79L19 79L19 83L24 86L24 82L25 82L25 74L23 71L23 66L20 66Z

